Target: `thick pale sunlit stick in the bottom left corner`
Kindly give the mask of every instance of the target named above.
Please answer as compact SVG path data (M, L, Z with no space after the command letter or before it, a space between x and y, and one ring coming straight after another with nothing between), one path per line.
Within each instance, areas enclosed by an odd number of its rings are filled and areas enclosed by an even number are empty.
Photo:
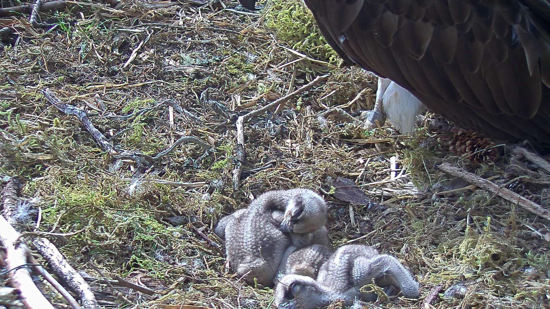
M13 269L10 272L12 285L19 290L21 302L27 309L54 309L32 281L29 268L24 266L27 263L29 249L24 244L15 245L19 233L3 216L0 216L0 231L0 242L5 247L6 266Z

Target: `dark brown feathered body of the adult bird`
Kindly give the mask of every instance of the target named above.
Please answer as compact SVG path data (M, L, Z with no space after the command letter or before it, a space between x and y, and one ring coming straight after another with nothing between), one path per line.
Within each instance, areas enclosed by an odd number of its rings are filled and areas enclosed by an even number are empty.
M255 0L240 0L254 9ZM305 0L349 65L493 139L550 142L547 0Z

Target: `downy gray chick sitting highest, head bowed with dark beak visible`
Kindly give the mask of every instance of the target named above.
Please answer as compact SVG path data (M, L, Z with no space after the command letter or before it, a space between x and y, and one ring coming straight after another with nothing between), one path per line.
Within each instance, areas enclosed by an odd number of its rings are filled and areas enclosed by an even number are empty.
M289 245L299 249L312 242L329 243L323 227L327 217L326 203L315 192L274 190L257 196L237 216L220 220L216 234L225 236L234 271L248 283L256 278L258 284L270 286Z

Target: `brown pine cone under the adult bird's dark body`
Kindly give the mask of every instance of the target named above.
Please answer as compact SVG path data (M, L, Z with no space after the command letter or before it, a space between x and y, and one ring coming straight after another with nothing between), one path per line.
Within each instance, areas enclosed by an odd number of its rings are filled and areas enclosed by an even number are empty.
M498 150L491 140L470 130L455 133L450 143L450 150L457 156L466 155L477 164L492 162L499 157Z

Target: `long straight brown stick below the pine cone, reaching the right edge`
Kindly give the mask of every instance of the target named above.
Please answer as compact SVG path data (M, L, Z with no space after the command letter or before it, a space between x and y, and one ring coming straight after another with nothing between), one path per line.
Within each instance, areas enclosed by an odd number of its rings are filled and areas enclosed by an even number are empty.
M542 208L537 203L533 203L530 200L527 200L527 198L520 196L518 194L515 194L514 192L500 187L496 184L493 184L491 181L488 181L487 179L483 179L475 174L464 172L458 167L455 167L447 162L442 163L439 165L439 169L443 170L445 173L449 173L453 176L458 176L466 181L468 181L471 184L474 184L482 189L485 189L493 194L496 194L504 200L516 203L516 205L519 205L528 211L536 214L537 216L541 216L547 220L550 220L550 210Z

